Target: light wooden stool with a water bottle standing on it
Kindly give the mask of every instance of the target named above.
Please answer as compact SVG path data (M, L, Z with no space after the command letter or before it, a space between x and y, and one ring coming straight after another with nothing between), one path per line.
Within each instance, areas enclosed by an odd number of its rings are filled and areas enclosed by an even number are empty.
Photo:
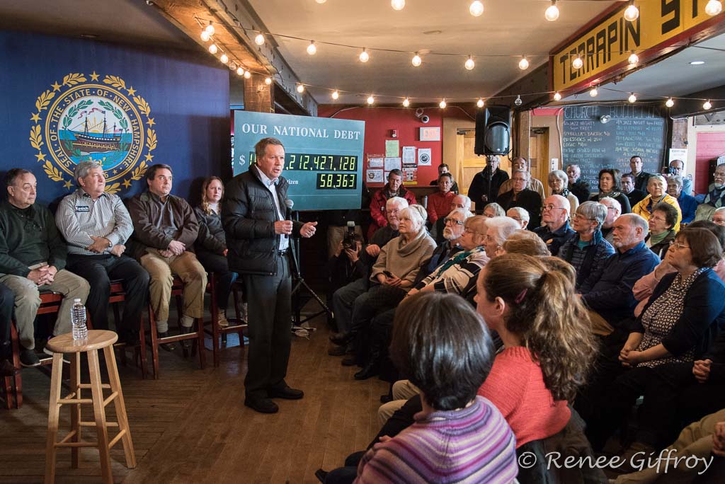
M123 451L126 456L126 467L136 467L136 456L133 454L133 442L128 428L126 407L123 403L121 383L118 379L116 360L113 354L113 343L118 335L113 331L89 330L88 339L73 341L71 333L59 335L48 341L47 347L53 354L53 375L51 376L50 406L48 409L48 436L46 440L46 474L45 482L55 480L55 457L58 447L71 448L71 466L78 468L78 448L97 447L101 459L101 473L104 483L113 483L111 473L111 459L109 450L118 442L123 441ZM101 369L99 367L98 350L103 349L108 370L109 385L101 383ZM65 399L60 398L62 385L63 354L70 354L70 394ZM91 383L80 383L80 353L88 354L88 372ZM80 391L91 389L91 399L83 399ZM111 394L104 399L103 389L109 388ZM106 422L105 406L111 401L116 407L118 422ZM58 419L61 405L73 405L70 410L70 433L57 442ZM95 422L82 422L80 420L80 405L92 404L94 407ZM83 441L80 435L81 427L96 427L98 440L96 442ZM118 434L109 442L108 427L118 427Z

